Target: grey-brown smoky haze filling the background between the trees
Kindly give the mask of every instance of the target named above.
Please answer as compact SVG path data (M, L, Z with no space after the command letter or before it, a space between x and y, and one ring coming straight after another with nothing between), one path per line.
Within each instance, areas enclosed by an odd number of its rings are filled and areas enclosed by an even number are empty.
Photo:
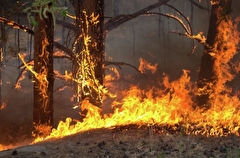
M105 16L114 17L119 14L131 14L156 2L158 1L106 0ZM192 20L191 24L194 34L202 31L207 36L209 11L191 6L191 3L187 0L170 0L169 4L175 6ZM206 1L199 4L210 9L210 5ZM234 16L236 17L240 14L237 10L240 7L240 1L235 0L233 7ZM161 6L152 11L177 15L173 9L166 6ZM73 11L70 10L70 12ZM108 19L106 18L106 20ZM26 19L21 19L21 22L27 25ZM176 34L179 32L184 33L184 30L178 22L157 15L142 15L108 32L105 41L106 60L125 62L138 67L139 59L143 58L153 65L158 64L155 74L147 71L145 75L140 74L129 66L122 66L122 69L119 69L121 80L117 81L117 89L115 90L121 91L130 84L138 84L140 87L153 84L158 82L156 79L160 80L163 73L169 75L171 80L175 80L182 75L183 69L190 70L191 80L195 82L203 46L196 41L193 42L184 36ZM29 74L21 82L22 89L14 89L15 81L20 72L18 66L21 64L17 57L14 56L16 33L15 30L11 30L9 33L7 56L3 67L2 99L6 106L0 110L0 144L23 140L31 134L33 85L31 78L28 77ZM22 31L19 34L21 53L30 55L30 49L32 49L30 37ZM61 27L56 26L56 40L61 39L61 34ZM196 50L193 54L188 55L194 45L197 46ZM238 59L237 57L235 60ZM54 62L54 68L61 73L71 69L71 64L66 59L55 59ZM124 76L131 76L132 80L127 80ZM149 82L149 79L151 82ZM237 84L239 82L235 80L234 85ZM64 81L55 80L55 89L64 85L68 86ZM72 95L71 88L54 93L55 126L59 120L64 120L66 117L80 119L78 109L72 108L74 104L71 100ZM111 112L111 106L109 105L111 101L106 101L105 103L103 112Z

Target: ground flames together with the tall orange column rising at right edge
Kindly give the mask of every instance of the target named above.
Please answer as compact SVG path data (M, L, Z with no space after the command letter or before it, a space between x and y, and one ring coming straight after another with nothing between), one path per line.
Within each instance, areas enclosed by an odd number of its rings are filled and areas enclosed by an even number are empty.
M150 87L148 90L142 90L137 86L131 86L128 91L122 92L124 98L121 102L113 102L112 107L115 110L111 115L102 116L100 108L92 105L87 99L83 100L81 108L87 110L88 113L82 122L72 123L72 119L67 118L65 122L60 122L48 137L38 138L35 142L62 138L90 129L129 124L178 125L186 134L204 136L235 134L239 136L239 96L232 94L231 89L226 85L227 81L234 78L234 75L230 73L231 68L228 63L236 54L239 43L239 33L234 31L235 27L232 22L223 22L218 28L222 36L218 37L216 54L212 54L217 59L215 62L215 71L218 75L217 89L209 109L193 106L192 94L196 90L190 81L189 71L183 70L183 75L176 81L170 82L168 76L165 76L161 82L158 81L161 88ZM152 66L143 59L140 61L141 72L155 71L154 68L157 65ZM106 78L112 79L108 76ZM111 86L114 87L114 85Z

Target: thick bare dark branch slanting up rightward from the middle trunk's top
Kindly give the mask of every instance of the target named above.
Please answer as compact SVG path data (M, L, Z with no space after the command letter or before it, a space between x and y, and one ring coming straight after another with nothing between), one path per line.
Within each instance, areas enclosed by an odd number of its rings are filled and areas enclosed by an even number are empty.
M129 20L132 20L132 19L134 19L134 18L136 18L140 15L147 14L150 10L166 4L168 1L169 0L160 0L159 2L157 2L153 5L150 5L146 8L143 8L142 10L137 11L133 14L128 14L128 15L121 14L121 15L118 15L116 17L113 17L105 23L104 31L105 32L111 31L111 30L117 28L118 26L120 26L121 24L123 24L123 23L125 23Z

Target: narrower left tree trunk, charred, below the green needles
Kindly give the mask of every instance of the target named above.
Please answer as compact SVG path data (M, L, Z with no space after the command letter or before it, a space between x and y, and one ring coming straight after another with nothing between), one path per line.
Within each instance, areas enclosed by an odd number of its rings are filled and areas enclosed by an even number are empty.
M36 136L46 136L53 126L53 19L37 15L34 36L33 126Z

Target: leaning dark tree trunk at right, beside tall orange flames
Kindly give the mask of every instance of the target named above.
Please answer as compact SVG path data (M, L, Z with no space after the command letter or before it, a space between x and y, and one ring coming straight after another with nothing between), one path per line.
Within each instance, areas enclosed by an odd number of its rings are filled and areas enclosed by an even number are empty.
M215 54L219 53L222 32L219 26L223 21L230 20L232 0L219 0L212 5L207 45L204 47L201 59L200 71L198 74L198 92L196 96L197 106L209 108L215 98L215 87L218 82L217 72L214 70L216 66Z

